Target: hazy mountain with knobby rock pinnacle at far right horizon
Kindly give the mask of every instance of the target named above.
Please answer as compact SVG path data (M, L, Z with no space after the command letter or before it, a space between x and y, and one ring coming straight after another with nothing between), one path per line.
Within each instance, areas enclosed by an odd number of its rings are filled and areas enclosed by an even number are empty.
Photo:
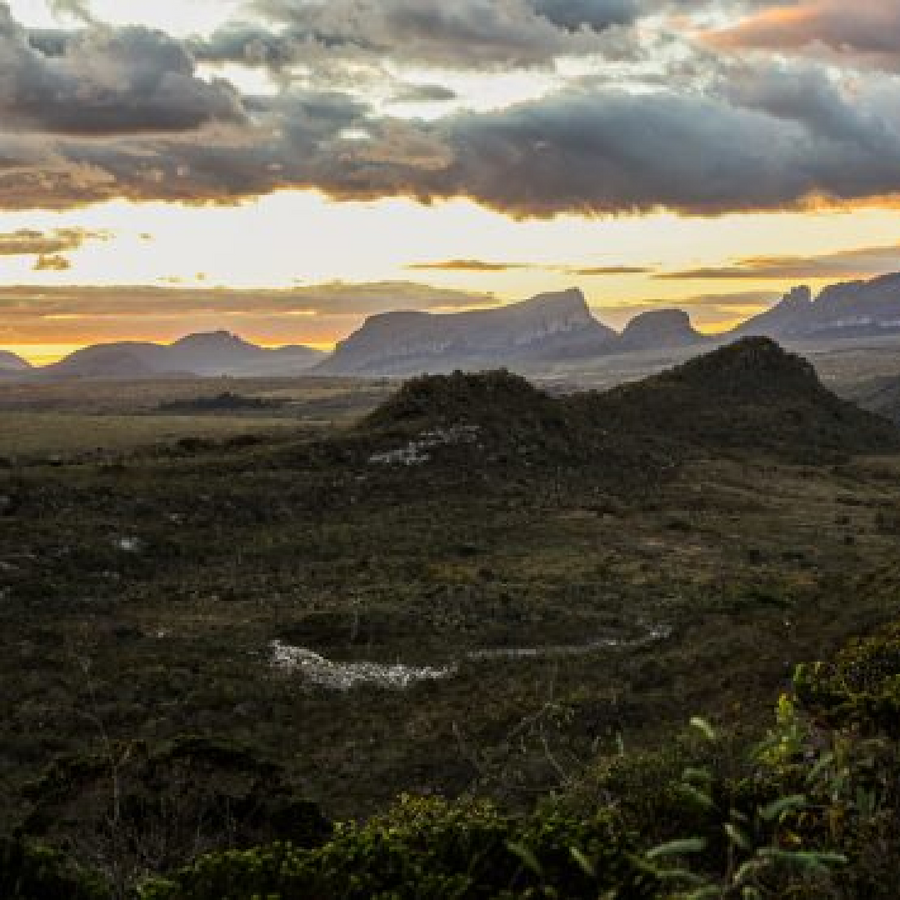
M813 297L794 288L772 309L739 325L734 334L778 340L834 340L900 334L900 273L825 288Z

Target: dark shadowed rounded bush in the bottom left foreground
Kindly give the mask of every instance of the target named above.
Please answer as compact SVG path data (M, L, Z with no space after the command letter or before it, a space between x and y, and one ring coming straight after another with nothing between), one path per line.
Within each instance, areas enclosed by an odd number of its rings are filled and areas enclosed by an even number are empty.
M61 759L28 795L23 830L90 863L119 895L199 853L278 839L315 846L331 833L277 765L195 737Z

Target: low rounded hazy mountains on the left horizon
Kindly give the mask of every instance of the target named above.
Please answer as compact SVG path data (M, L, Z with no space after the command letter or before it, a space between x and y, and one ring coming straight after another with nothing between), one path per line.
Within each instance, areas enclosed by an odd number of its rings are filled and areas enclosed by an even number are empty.
M95 344L35 369L38 380L131 380L161 376L290 376L305 372L324 354L309 347L258 347L227 331L191 334L174 344L124 341Z

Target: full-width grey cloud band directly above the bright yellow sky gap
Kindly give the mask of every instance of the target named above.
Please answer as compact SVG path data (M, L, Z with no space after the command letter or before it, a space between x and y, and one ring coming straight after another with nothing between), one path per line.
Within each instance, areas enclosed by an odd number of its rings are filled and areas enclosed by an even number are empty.
M900 191L900 119L865 97L821 113L789 113L785 101L777 115L773 97L753 102L570 90L426 124L373 119L341 95L299 96L261 104L271 128L252 136L70 140L53 153L13 142L10 156L0 140L0 204L229 202L315 187L343 199L470 197L516 216L716 214ZM883 103L887 112L896 100Z

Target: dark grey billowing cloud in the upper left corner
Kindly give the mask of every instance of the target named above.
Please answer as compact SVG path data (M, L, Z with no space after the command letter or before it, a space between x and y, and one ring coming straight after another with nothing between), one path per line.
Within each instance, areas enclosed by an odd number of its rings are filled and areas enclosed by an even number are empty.
M50 52L45 52L50 51ZM177 132L244 119L237 92L207 82L175 40L131 27L32 42L0 3L0 120L50 134Z

